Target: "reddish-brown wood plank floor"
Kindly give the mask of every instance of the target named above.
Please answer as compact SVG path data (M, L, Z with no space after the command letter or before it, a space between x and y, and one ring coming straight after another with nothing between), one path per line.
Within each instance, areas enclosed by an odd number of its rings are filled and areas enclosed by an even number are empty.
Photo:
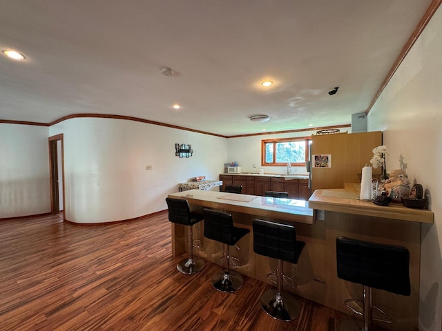
M0 329L334 331L351 317L298 298L295 321L259 306L269 285L244 277L233 294L214 290L221 270L176 270L166 212L110 225L58 215L0 221Z

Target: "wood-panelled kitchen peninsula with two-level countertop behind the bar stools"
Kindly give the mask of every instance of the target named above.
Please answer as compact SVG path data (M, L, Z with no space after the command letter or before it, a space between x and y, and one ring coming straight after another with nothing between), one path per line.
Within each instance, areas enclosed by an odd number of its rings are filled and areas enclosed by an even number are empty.
M382 324L383 328L414 331L417 328L419 315L421 222L427 223L430 220L432 222L432 212L409 210L396 204L391 207L381 207L366 201L358 201L356 200L358 194L355 193L357 185L350 184L347 188L337 190L317 190L309 201L202 190L178 192L169 194L169 197L187 199L194 210L213 208L229 212L236 226L251 230L250 234L238 242L240 250L231 250L231 255L242 261L242 265L236 268L236 271L269 284L266 275L276 270L276 261L254 254L251 221L267 219L295 225L298 239L305 241L306 246L298 265L284 263L284 273L295 279L298 284L297 288L285 288L285 290L346 314L351 312L345 308L345 299L360 299L362 286L338 279L336 237L344 236L405 246L410 251L412 294L410 297L403 297L373 290L373 297L374 303L385 308L394 321L390 325ZM330 197L332 194L334 197ZM238 196L238 200L231 200L235 198L234 196ZM335 199L334 202L331 202L331 199ZM345 199L350 199L352 203ZM286 209L287 205L282 203L284 200L291 201L289 209ZM342 202L340 206L338 201ZM358 211L358 203L361 203L363 210L361 213ZM356 210L346 208L356 208ZM325 221L314 221L314 209L325 210ZM410 219L407 214L414 214L414 217ZM184 243L184 239L187 238L186 230L186 227L172 223L174 255L186 250L187 246ZM202 248L198 250L199 256L222 265L220 261L222 245L204 238L203 231L203 223L195 225L194 238L202 241Z

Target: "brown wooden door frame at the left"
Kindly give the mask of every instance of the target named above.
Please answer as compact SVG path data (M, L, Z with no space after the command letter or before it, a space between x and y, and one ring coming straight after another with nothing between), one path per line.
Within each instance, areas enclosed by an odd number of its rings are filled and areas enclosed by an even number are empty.
M61 141L61 174L58 173L58 152L57 142ZM58 214L59 208L59 178L61 177L61 185L63 192L63 219L65 219L65 199L64 199L64 143L63 134L56 134L48 138L49 147L49 178L50 178L50 213Z

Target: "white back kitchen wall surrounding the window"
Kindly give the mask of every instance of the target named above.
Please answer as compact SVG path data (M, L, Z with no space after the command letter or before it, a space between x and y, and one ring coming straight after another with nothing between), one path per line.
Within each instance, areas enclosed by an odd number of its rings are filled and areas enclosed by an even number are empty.
M352 118L349 117L349 122ZM263 166L261 165L261 141L266 139L282 139L294 137L310 137L316 134L317 130L292 132L284 134L262 134L251 137L238 137L227 139L227 157L226 163L238 161L242 166L243 172L254 172L253 165L256 169L264 169L266 174L285 174L287 167ZM352 128L340 128L340 132L352 132ZM291 167L292 174L307 174L305 167Z

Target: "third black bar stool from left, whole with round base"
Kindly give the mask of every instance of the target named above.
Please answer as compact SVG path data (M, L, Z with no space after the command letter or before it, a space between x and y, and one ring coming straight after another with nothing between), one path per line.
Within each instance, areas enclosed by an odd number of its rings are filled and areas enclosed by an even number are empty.
M273 319L292 321L300 314L300 305L293 295L282 292L282 261L298 263L305 242L296 240L296 229L292 225L278 224L256 219L253 226L253 251L256 254L278 259L276 290L264 292L261 308Z

